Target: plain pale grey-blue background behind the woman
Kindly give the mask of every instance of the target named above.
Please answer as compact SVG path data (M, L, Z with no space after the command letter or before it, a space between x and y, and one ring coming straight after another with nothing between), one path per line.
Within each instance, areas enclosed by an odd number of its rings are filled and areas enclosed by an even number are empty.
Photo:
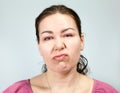
M0 92L41 73L34 20L52 4L80 15L89 76L120 91L120 0L0 0Z

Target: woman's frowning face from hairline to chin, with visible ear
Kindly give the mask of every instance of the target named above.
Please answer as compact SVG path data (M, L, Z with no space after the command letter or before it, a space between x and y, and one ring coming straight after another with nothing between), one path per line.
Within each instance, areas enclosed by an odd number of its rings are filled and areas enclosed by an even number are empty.
M56 13L44 18L39 24L39 50L48 71L67 72L76 70L84 37L79 36L72 17Z

